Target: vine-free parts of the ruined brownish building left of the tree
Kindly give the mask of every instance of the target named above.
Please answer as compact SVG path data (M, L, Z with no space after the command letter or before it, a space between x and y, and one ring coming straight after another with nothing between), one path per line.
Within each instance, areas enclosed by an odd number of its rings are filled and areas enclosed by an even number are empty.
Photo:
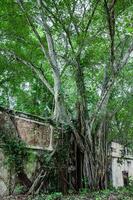
M10 117L13 117L17 132L21 139L27 144L27 148L33 151L51 151L53 149L51 127L47 123L41 122L41 118L37 118L36 120L31 119L31 116L29 117L29 115L25 115L24 113L17 113L14 115L10 112L8 114ZM7 122L6 124L10 127L10 123L12 122L9 119L9 115L0 112L1 123L4 124ZM10 172L6 169L4 160L4 155L0 148L0 196L9 193Z

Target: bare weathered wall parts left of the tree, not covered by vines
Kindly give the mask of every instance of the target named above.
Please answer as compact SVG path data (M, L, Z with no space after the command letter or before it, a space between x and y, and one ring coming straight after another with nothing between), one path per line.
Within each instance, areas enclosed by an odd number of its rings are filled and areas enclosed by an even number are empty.
M0 113L0 130L11 130L11 134L18 134L27 143L27 147L52 149L50 146L50 126L42 122L18 116L12 118L6 113ZM0 149L0 196L9 192L9 177L8 170L4 166L2 149Z

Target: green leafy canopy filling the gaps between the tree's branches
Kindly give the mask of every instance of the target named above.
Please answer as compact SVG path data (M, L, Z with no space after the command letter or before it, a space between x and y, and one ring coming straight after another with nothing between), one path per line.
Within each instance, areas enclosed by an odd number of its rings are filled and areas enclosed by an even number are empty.
M52 2L46 1L44 8L46 16L51 23L51 32L53 39L55 40L55 48L58 52L58 61L60 62L60 71L62 73L61 90L65 97L66 105L73 115L75 115L75 103L78 98L78 94L75 93L75 69L73 66L74 53L69 47L68 39L65 38L66 28L70 32L71 42L74 49L77 50L82 40L84 39L84 31L88 19L91 18L91 12L93 6L85 6L83 1L80 5L79 2L74 4L74 1L59 1ZM91 0L90 5L95 5L96 1ZM73 18L71 18L71 7L75 8ZM46 36L43 31L42 23L38 21L38 7L35 2L26 2L25 9L29 13L34 26L40 34L43 43L46 43ZM75 6L75 7L74 7ZM79 15L78 9L81 7L81 11L88 9L84 13L84 18ZM32 61L35 64L36 69L39 69L44 77L53 85L53 77L51 74L51 67L41 52L38 44L38 40L31 31L25 13L19 7L19 4L15 2L1 1L1 47L15 52L18 56L26 61ZM51 12L52 11L52 12ZM58 12L57 12L58 11ZM64 14L63 12L64 11ZM131 38L131 13L132 13L132 1L127 0L126 3L117 2L115 7L116 12L116 46L118 46L117 54L123 48L122 44L126 46L130 43ZM56 16L55 16L56 14ZM93 23L90 24L89 32L86 34L85 44L81 55L81 66L84 69L85 85L86 85L86 97L88 102L88 109L90 114L93 113L94 107L99 100L99 92L101 90L102 81L104 78L104 67L109 62L109 34L106 22L106 12L104 10L103 2L100 2L93 19ZM61 23L62 22L62 23ZM63 27L62 27L63 26ZM72 26L72 27L71 27ZM102 26L102 27L101 27ZM74 27L78 28L78 33ZM66 40L66 41L65 41ZM65 44L66 43L66 44ZM126 47L125 46L125 47ZM40 81L39 77L23 63L18 62L13 56L1 55L1 99L0 103L6 107L11 107L16 110L26 111L29 113L49 116L53 109L53 97ZM116 55L117 59L119 56ZM65 60L66 58L66 60ZM89 59L88 59L89 58ZM68 62L68 60L70 62ZM130 69L130 72L129 72ZM130 77L132 74L132 68L128 66L125 70L125 74L122 77ZM23 76L22 76L23 74ZM123 81L121 79L119 90L121 87L125 87L125 91L128 90L127 79ZM4 82L3 82L4 78ZM122 85L123 86L122 86ZM16 87L17 86L17 87ZM115 86L115 96L118 95L118 85ZM113 98L114 101L114 98ZM118 103L118 102L117 102ZM116 104L114 105L116 106ZM113 108L112 108L113 109Z

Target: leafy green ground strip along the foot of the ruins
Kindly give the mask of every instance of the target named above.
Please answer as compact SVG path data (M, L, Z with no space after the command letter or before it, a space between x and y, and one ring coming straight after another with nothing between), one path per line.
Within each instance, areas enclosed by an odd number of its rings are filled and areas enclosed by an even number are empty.
M49 195L24 196L15 195L1 197L0 200L133 200L133 186L129 188L119 188L112 190L101 190L97 192L81 191L79 194L69 194L63 196L54 192Z

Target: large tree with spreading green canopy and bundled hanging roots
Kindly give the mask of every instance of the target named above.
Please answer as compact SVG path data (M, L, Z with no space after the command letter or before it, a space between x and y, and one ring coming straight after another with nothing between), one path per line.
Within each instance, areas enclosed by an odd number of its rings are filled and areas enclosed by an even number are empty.
M83 177L104 187L110 119L121 86L131 90L132 0L7 0L1 8L1 103L69 130L78 187Z

